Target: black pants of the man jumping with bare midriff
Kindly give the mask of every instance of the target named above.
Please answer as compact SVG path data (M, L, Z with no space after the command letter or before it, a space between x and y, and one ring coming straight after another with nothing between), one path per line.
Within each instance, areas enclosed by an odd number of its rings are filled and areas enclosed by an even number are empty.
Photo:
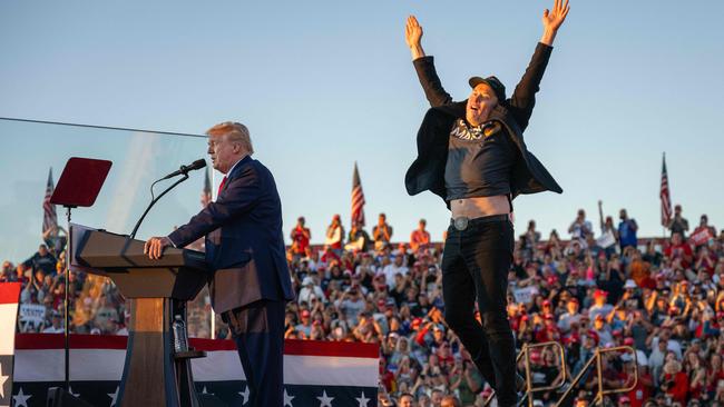
M442 296L448 326L458 335L498 405L513 406L516 344L508 322L508 270L513 230L507 216L471 219L467 229L448 229L442 255ZM480 319L474 317L478 301Z

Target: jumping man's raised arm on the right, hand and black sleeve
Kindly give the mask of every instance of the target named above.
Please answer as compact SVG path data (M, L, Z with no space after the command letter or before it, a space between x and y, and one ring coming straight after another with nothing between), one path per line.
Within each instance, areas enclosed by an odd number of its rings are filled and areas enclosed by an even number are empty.
M540 80L546 71L556 33L558 33L558 29L566 20L569 10L568 0L565 3L562 0L555 0L552 10L546 9L544 11L541 19L544 33L540 43L536 47L536 52L530 59L526 73L524 73L510 98L511 112L521 130L528 127L530 115L532 115L532 109L536 106L536 93L540 90Z

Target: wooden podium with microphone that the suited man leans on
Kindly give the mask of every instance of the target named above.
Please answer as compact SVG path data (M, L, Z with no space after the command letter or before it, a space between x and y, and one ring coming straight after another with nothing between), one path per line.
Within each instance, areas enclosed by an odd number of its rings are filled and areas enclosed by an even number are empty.
M80 230L78 230L80 229ZM186 322L186 301L207 281L205 255L166 248L160 259L144 255L144 241L104 230L74 229L72 260L87 271L110 278L130 301L130 325L124 375L116 406L200 406L189 349L176 353L172 324Z

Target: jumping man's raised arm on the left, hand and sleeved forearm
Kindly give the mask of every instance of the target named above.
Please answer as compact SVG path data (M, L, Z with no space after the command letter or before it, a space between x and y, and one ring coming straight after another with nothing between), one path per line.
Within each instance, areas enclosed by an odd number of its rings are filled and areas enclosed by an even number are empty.
M404 27L404 41L412 53L412 63L418 72L418 79L424 90L424 96L432 107L452 102L452 98L442 88L432 57L427 57L422 49L422 27L414 16L408 18Z

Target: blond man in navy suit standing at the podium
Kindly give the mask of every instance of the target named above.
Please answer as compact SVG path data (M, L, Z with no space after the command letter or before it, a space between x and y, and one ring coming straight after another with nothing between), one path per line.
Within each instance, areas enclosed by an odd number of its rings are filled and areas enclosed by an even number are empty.
M229 325L250 388L250 405L283 405L285 302L294 299L282 235L282 205L272 172L252 159L242 123L207 131L208 153L225 173L215 202L145 250L184 247L206 236L212 306Z

